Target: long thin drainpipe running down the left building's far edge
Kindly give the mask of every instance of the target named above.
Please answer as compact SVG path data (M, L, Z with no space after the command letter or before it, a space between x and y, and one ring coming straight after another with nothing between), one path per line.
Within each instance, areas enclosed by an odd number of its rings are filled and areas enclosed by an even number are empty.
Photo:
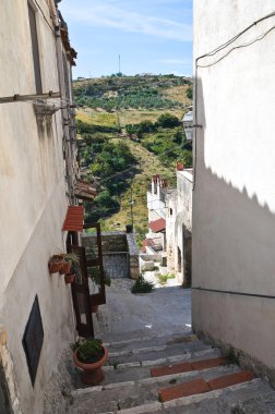
M73 202L73 155L70 143L70 129L69 121L71 118L70 108L67 107L67 97L65 94L65 82L64 82L64 66L63 66L63 45L60 33L60 25L58 20L58 11L53 0L49 0L51 19L55 24L55 36L56 36L56 51L57 51L57 65L58 65L58 77L59 77L59 87L61 95L61 113L62 113L62 126L63 126L63 145L62 148L65 154L65 171L67 171L67 182L69 186L69 198L70 203Z

